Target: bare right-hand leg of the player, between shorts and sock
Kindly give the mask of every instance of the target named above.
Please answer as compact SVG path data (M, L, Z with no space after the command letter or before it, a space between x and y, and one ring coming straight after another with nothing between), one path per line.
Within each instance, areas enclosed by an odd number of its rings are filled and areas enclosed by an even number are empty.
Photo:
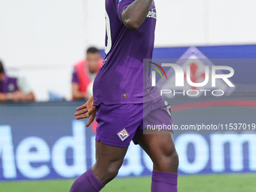
M139 145L151 157L154 170L162 172L178 171L178 154L172 132L169 130L151 130L150 134L142 134L139 137Z

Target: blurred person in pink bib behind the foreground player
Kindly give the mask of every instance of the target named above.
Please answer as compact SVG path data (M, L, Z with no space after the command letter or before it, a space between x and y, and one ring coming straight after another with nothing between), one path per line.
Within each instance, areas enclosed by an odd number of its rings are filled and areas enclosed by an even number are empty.
M87 49L86 58L77 62L72 75L72 98L89 99L93 95L93 81L103 59L96 47Z

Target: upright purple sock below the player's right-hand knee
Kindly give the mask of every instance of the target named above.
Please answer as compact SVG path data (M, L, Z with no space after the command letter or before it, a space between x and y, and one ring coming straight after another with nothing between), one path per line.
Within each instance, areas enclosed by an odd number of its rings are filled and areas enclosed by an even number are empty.
M151 192L177 192L178 173L153 171Z

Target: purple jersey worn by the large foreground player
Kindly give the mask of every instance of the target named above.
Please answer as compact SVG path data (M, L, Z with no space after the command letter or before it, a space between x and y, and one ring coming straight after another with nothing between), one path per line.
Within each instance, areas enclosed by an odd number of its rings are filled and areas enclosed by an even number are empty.
M126 28L121 20L122 11L133 2L105 0L106 56L93 84L94 105L142 103L160 96L157 87L151 87L150 68L143 72L143 59L151 59L154 49L154 1L136 31Z

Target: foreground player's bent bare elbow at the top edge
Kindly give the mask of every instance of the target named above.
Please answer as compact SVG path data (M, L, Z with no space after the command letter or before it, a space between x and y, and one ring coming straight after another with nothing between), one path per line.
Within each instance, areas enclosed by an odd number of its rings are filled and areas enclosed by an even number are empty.
M136 0L130 4L121 14L123 24L132 31L136 31L145 21L152 0Z

